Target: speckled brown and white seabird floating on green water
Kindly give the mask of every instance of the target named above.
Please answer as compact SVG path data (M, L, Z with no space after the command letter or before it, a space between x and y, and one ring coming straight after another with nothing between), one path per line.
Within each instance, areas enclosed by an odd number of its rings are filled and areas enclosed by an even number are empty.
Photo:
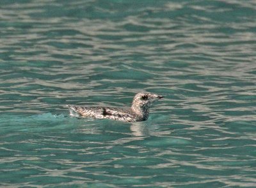
M140 122L148 119L150 106L163 96L150 92L137 93L130 108L86 107L67 105L70 116L112 119L122 122Z

